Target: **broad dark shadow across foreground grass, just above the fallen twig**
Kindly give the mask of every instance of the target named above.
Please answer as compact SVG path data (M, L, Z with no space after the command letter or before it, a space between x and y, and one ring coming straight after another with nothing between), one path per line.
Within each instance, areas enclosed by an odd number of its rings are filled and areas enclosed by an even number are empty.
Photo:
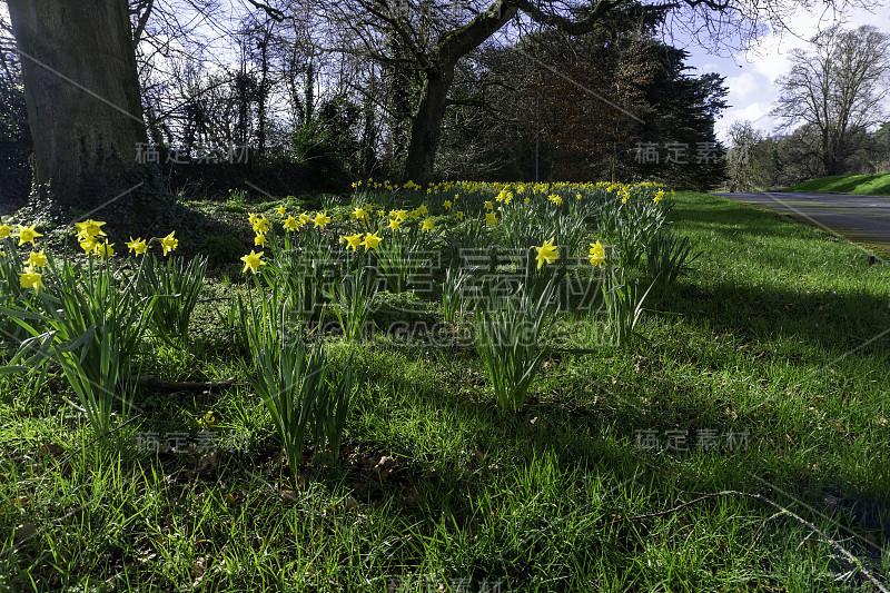
M453 366L459 368L469 362L457 360ZM522 413L504 414L492 405L484 377L472 377L472 368L461 376L454 368L442 367L431 385L418 385L394 369L384 368L377 377L392 385L393 392L409 391L413 401L405 405L419 408L423 415L448 409L461 418L457 424L472 425L475 431L467 436L466 455L444 455L444 462L436 459L441 455L428 456L428 463L446 464L448 477L443 482L421 480L421 487L428 492L423 507L404 504L398 494L404 483L379 492L387 507L406 520L472 514L468 498L483 495L493 482L510 490L508 483L517 472L552 455L564 475L575 475L575 481L607 476L607 483L616 488L611 498L578 500L577 513L601 514L619 508L625 514L659 512L673 506L680 492L736 490L762 493L841 538L852 533L878 546L890 543L890 500L863 494L862 484L808 471L805 459L799 458L781 437L781 429L764 432L770 421L768 411L729 421L725 402L719 397L709 404L688 399L670 379L654 392L631 387L619 394L594 384L594 395L576 397L574 394L586 392L585 386L591 385L590 377L578 377L575 384L563 382L558 393L540 392L540 397L533 398ZM473 392L478 397L468 395ZM672 431L682 435L679 451L665 446L665 435ZM716 448L709 449L702 443L713 431L721 441ZM661 438L657 451L640 445L646 433ZM733 433L735 447L725 443L726 435ZM411 458L428 446L427 438L400 434L397 438L373 441L380 451ZM465 453L464 448L461 453ZM475 453L478 458L474 458L474 451L479 452ZM513 466L505 467L506 472L491 470L490 463L497 466L504 458L511 459ZM626 493L621 492L623 483L639 492L639 500L630 508ZM756 503L745 504L764 518L770 514ZM876 556L876 546L864 550L860 545L858 550Z

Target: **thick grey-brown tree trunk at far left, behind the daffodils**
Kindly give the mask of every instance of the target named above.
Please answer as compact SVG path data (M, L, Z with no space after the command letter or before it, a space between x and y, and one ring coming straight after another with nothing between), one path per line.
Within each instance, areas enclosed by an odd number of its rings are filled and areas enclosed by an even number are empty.
M146 127L127 0L8 4L42 188L37 199L91 210L131 189Z

